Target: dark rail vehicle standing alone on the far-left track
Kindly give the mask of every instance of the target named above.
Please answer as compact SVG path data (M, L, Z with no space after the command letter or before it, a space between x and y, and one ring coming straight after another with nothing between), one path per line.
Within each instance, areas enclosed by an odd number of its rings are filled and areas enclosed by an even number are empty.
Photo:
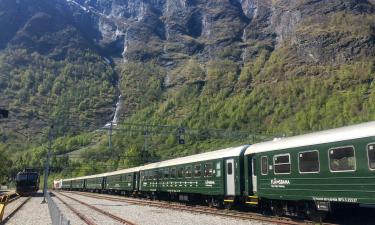
M39 173L34 169L18 172L16 177L16 192L21 196L30 195L39 190Z

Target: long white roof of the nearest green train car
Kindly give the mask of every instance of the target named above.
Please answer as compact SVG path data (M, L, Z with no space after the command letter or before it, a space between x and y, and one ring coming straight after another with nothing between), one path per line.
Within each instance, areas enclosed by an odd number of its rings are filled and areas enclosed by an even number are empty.
M246 149L245 155L371 136L375 136L375 121L254 144Z

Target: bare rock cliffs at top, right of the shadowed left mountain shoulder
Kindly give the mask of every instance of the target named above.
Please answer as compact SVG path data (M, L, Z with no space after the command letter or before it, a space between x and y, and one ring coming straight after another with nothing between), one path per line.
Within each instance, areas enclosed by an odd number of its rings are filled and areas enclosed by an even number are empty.
M78 26L107 53L125 60L157 58L166 65L192 55L201 61L218 57L246 61L262 49L285 43L306 47L307 55L314 55L324 47L325 38L296 34L306 18L374 12L373 3L366 0L67 0L67 4ZM367 48L371 43L369 37L354 45ZM356 51L360 52L352 53Z

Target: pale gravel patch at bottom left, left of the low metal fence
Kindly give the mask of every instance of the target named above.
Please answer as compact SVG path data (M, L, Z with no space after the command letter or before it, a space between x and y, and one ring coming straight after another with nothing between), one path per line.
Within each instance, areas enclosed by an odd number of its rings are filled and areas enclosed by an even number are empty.
M50 225L48 205L41 204L43 195L32 197L10 220L7 225ZM18 202L18 201L17 201Z

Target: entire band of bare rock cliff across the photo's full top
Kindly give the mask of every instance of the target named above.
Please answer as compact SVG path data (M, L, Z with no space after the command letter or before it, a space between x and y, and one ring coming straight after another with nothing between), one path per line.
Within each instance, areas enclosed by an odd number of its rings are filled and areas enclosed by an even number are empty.
M1 8L7 10L0 15L0 29L6 31L0 48L15 44L42 53L64 49L74 35L85 43L77 48L93 44L107 57L165 66L192 56L201 62L226 58L244 63L285 46L309 63L374 52L374 22L355 37L345 28L314 29L336 26L337 14L371 20L375 7L369 0L3 0ZM53 33L53 41L40 38L45 33Z

